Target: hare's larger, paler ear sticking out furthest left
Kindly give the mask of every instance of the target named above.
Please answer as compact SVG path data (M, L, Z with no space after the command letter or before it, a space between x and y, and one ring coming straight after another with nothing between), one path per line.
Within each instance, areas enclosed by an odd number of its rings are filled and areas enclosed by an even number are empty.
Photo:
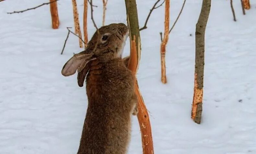
M74 54L63 66L61 74L64 76L73 75L77 69L78 72L81 72L92 59L95 59L92 52L82 51L81 53Z

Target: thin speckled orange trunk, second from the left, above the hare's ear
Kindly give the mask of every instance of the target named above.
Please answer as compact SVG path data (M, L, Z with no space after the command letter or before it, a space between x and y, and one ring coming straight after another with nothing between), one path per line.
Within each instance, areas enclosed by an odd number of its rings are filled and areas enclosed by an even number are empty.
M78 34L78 36L82 38L80 25L79 25L79 18L78 18L76 0L72 0L72 5L73 5L73 14L74 14L74 23L75 23L75 33ZM82 42L81 39L79 39L79 46L80 46L80 48L83 47L83 42Z

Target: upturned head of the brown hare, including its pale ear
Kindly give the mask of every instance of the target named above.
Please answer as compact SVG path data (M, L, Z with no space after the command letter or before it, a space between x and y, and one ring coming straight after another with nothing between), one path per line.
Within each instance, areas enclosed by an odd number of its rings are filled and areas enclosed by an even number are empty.
M99 62L108 62L121 58L127 36L128 27L123 23L100 27L88 42L86 50L74 54L65 63L62 75L73 75L78 70L78 75L79 72L83 72L85 76L87 71L84 69L89 61L98 59Z

